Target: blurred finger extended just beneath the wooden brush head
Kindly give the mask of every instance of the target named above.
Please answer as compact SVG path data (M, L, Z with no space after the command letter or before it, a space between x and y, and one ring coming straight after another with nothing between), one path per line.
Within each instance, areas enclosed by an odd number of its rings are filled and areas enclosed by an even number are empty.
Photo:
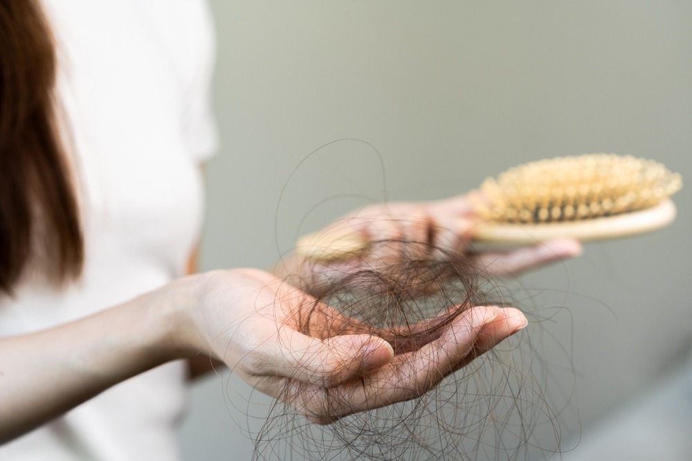
M579 256L581 243L573 238L557 238L511 252L479 253L473 261L491 275L511 275L564 258Z

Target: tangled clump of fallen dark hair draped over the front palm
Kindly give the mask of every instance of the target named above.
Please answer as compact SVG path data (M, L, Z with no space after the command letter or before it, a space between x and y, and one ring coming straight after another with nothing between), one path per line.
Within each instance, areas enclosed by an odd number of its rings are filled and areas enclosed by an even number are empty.
M383 252L390 256L376 266L349 263L357 256L340 258L331 263L337 275L332 272L321 282L311 280L300 287L309 288L315 297L298 312L304 334L320 338L376 335L399 355L430 344L473 306L509 304L511 297L499 285L458 255L445 254L430 243L377 245L390 250ZM299 271L318 272L323 267L315 266L323 264L307 261ZM316 317L320 321L314 321ZM464 368L455 373L440 370L432 378L433 390L414 392L408 402L354 413L325 425L312 424L298 414L291 406L295 388L287 387L256 435L254 458L535 459L536 426L550 424L556 439L559 433L536 380L527 373L527 364L511 357L518 341L510 339L491 351L473 350ZM426 359L436 361L437 357L433 352ZM326 401L335 407L348 404L330 396L329 389L325 392ZM554 454L556 448L547 450Z

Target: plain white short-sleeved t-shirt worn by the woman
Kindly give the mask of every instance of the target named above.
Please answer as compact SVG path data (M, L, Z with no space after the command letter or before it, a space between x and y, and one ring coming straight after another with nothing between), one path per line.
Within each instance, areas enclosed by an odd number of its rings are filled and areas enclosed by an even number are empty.
M214 40L202 0L43 4L80 176L86 263L63 291L29 272L15 298L0 299L0 336L83 317L180 276L199 236L199 164L216 148ZM175 460L184 378L177 362L130 379L1 446L0 460Z

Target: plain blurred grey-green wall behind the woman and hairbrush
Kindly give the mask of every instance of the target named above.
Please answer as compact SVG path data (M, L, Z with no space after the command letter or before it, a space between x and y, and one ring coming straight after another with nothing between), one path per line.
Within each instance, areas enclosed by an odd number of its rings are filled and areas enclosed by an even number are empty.
M692 178L690 1L210 3L222 147L207 169L205 270L270 267L367 200L444 198L529 160L630 153ZM309 156L343 138L379 153L342 141ZM686 360L691 196L677 194L668 229L518 281L524 334L568 402L563 448ZM195 384L185 459L250 458L243 429L267 402L233 377Z

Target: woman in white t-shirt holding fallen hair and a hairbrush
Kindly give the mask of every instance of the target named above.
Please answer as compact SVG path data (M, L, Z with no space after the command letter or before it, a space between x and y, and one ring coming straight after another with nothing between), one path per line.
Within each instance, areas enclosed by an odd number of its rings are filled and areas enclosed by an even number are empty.
M270 395L307 384L294 401L329 422L424 392L440 368L525 326L518 310L475 308L424 346L444 350L440 361L421 363L371 335L296 332L309 295L267 272L183 277L199 236L199 167L216 142L203 3L6 0L0 21L0 458L176 459L195 357ZM444 227L461 254L465 204L397 205L393 220L352 225L378 238ZM578 251L558 242L495 267ZM416 378L401 382L411 366ZM364 376L347 407L321 392L348 393Z

